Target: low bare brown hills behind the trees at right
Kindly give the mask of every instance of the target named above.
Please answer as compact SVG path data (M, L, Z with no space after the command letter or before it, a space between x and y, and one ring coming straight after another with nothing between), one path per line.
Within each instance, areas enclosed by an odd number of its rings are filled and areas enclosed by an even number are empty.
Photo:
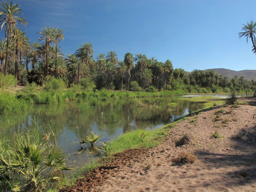
M227 76L228 78L244 76L246 80L254 79L256 80L256 70L242 70L242 71L233 71L231 69L216 68L216 69L205 69L203 71L214 70L218 75ZM186 75L189 75L190 72L186 72Z

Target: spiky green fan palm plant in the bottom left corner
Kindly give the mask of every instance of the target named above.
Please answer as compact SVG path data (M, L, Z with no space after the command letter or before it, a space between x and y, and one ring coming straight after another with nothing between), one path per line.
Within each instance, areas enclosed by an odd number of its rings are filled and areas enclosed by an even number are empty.
M40 143L31 136L19 136L15 147L0 155L0 176L19 181L13 190L38 191L51 174L68 170L66 155L56 145Z

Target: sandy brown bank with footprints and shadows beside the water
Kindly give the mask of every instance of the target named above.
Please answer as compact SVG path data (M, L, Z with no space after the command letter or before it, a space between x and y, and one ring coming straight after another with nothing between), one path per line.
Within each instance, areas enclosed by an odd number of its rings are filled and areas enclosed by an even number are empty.
M185 134L189 144L176 146ZM181 151L198 159L173 164ZM189 117L161 145L117 154L112 165L120 167L97 168L60 191L256 191L256 107L228 106Z

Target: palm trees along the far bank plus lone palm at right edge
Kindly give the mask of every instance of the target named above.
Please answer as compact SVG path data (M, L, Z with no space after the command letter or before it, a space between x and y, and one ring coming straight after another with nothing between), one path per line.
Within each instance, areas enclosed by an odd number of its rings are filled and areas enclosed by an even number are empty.
M18 23L27 25L22 17L20 5L3 1L0 7L1 30L5 29L5 39L0 40L0 72L15 76L16 85L36 82L43 85L47 76L62 78L67 86L80 84L81 79L91 81L97 89L111 90L175 90L190 92L251 91L256 81L244 77L227 77L214 71L194 69L186 75L184 69L173 69L172 62L159 62L145 54L126 53L123 60L115 51L94 55L93 45L84 42L73 54L64 55L59 42L64 40L63 30L42 28L37 42L31 43L24 29ZM256 23L252 24L254 33ZM251 38L254 33L248 28L239 36ZM255 47L255 45L254 45ZM2 82L2 81L1 81Z

